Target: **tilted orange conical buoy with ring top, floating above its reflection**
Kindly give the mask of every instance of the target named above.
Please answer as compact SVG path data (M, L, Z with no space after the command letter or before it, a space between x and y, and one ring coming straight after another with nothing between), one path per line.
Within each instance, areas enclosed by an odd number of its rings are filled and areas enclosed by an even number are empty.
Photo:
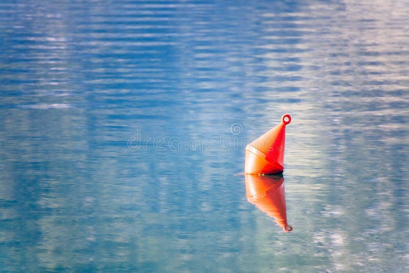
M244 172L247 174L274 174L284 170L285 126L290 115L281 118L281 124L246 146Z

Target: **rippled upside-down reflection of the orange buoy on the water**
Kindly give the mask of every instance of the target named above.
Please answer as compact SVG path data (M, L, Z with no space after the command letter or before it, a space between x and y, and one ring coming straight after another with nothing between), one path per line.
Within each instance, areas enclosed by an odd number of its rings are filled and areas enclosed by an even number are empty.
M246 197L262 212L274 218L284 232L292 231L287 223L284 177L282 175L245 175Z

